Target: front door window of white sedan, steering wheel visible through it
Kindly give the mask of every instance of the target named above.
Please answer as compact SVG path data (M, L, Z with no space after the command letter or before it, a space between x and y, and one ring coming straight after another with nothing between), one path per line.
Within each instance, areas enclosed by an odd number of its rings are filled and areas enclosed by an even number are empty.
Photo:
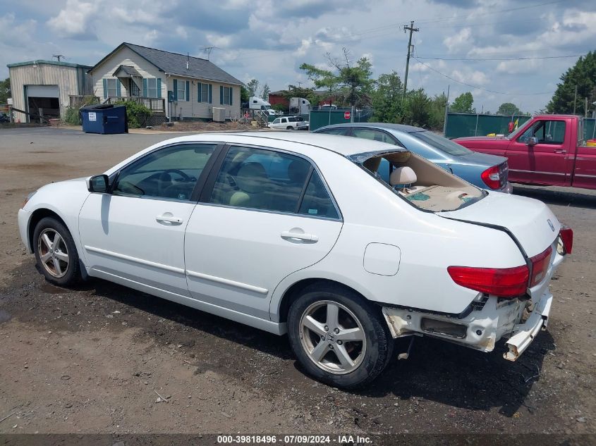
M154 151L123 168L112 193L190 200L216 144L181 144Z

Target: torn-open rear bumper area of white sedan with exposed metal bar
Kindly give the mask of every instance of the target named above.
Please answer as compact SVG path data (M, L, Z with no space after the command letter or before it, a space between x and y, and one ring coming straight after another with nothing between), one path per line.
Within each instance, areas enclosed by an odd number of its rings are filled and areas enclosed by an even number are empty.
M393 337L432 336L482 352L492 352L498 340L509 337L509 352L503 356L515 361L546 328L551 303L552 294L546 290L536 302L479 296L477 309L464 318L388 306L383 315Z

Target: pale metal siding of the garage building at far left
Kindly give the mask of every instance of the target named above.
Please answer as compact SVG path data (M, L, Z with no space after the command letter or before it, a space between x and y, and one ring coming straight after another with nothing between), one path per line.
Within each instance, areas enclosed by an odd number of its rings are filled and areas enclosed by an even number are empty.
M77 72L83 68L71 66L49 65L38 63L37 66L23 65L11 67L8 73L11 77L11 90L13 96L13 106L16 109L27 111L25 103L25 85L57 85L59 88L60 114L64 116L66 107L70 104L68 96L70 94L85 94L85 91L79 90ZM83 84L84 84L83 80ZM80 86L84 89L85 85ZM15 112L15 119L21 123L28 122L27 115Z

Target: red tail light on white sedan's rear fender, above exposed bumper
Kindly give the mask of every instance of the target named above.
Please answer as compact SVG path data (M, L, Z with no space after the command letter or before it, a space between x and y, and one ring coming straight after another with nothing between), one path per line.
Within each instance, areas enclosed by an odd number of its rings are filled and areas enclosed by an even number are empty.
M525 265L515 268L449 266L447 272L451 279L462 287L499 297L523 295L528 288L530 278L530 270Z

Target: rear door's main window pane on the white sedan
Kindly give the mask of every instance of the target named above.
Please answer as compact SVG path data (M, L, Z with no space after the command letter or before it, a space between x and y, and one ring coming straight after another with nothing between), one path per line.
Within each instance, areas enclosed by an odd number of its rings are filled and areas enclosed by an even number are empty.
M296 212L311 168L307 160L298 156L264 149L230 147L209 202Z

